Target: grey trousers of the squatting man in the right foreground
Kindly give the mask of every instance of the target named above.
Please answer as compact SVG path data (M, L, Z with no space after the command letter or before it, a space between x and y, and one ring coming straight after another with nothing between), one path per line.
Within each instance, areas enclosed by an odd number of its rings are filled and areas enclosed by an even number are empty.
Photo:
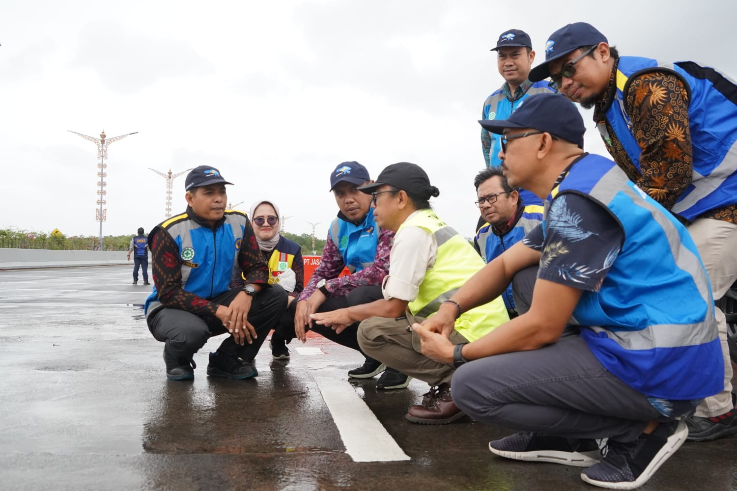
M647 422L667 420L602 367L578 334L470 361L452 385L453 401L473 419L522 431L632 442Z

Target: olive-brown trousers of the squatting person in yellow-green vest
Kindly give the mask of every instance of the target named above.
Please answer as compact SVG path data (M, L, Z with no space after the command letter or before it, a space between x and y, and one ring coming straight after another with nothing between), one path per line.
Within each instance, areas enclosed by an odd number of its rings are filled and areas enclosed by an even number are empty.
M425 317L414 317L409 311L397 319L370 317L358 326L358 344L367 356L431 386L450 382L455 369L423 355L419 336L407 331L407 326L423 320ZM467 342L467 339L458 331L453 331L450 341L458 345Z

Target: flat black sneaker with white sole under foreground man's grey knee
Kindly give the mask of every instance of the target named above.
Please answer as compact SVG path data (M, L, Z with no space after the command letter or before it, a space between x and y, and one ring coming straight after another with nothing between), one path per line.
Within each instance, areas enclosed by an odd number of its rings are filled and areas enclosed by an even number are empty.
M601 459L595 439L557 437L529 431L520 431L489 442L489 451L507 459L552 462L573 467L589 467Z

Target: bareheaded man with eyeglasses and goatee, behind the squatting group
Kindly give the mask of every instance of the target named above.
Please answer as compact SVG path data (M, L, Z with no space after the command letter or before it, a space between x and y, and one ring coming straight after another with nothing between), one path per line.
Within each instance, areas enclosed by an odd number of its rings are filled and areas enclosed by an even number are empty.
M522 240L525 233L537 227L542 220L542 206L525 206L520 198L520 191L509 186L500 167L483 169L476 174L473 183L478 195L475 205L481 211L481 219L484 221L483 227L473 239L473 247L481 255L483 262L489 263ZM512 283L509 283L502 294L510 318L527 310L532 298L532 283L534 268L528 274L515 277L514 289L520 305L514 301Z

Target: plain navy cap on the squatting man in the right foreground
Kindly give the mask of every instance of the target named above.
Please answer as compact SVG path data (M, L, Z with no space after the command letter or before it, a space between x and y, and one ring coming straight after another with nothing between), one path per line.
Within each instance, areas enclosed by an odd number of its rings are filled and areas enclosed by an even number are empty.
M504 134L505 128L532 128L545 131L565 141L584 148L584 119L581 113L564 96L556 93L537 93L525 99L523 105L511 113L509 119L483 119L478 121L492 133Z

